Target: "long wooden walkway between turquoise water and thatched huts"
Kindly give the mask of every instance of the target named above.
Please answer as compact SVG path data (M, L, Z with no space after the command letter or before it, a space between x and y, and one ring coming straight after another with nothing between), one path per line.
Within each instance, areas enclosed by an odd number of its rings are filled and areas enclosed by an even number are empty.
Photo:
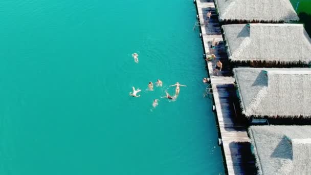
M256 174L254 157L250 150L250 139L246 132L246 122L238 112L238 100L234 88L234 78L230 62L225 50L223 36L217 18L215 5L211 0L196 0L205 54L215 54L216 60L208 61L208 71L212 84L214 102L216 106L217 122L222 141L225 166L228 174ZM206 14L212 12L208 23ZM216 49L211 49L211 41L219 41ZM223 63L221 72L215 73L216 61Z

